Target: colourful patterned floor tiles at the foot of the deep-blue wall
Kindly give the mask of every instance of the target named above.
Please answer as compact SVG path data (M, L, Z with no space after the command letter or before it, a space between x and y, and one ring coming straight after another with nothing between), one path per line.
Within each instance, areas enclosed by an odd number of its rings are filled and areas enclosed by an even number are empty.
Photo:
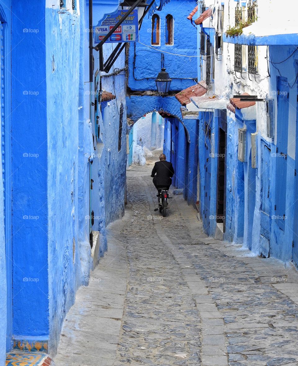
M44 353L11 352L6 355L6 366L49 366L50 358Z

